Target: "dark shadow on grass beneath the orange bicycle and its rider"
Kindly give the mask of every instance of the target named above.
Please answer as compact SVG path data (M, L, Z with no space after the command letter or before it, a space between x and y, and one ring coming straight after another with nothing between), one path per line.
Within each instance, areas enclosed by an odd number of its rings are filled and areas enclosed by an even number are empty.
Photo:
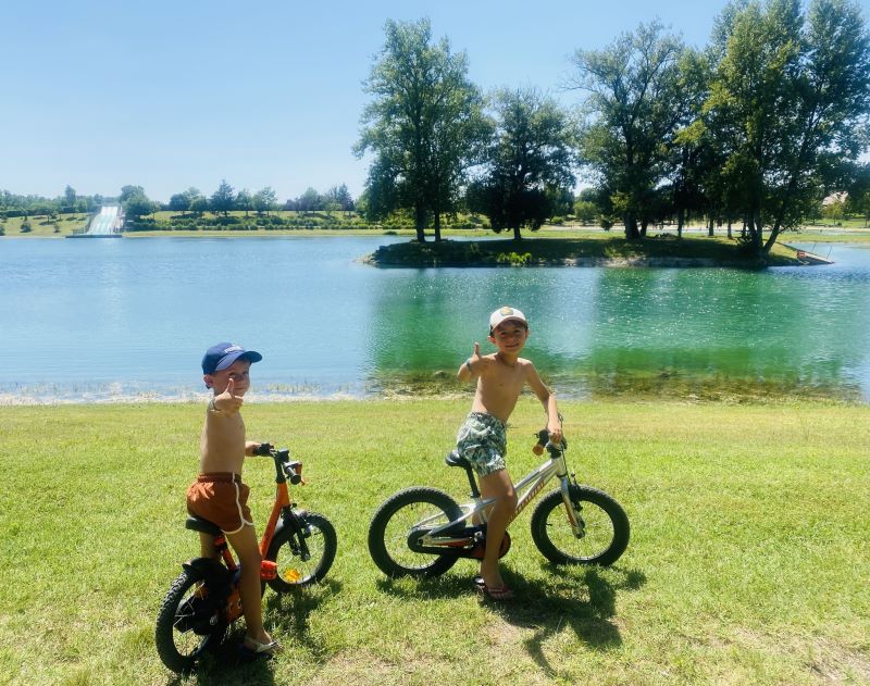
M323 598L338 593L341 585L328 579L296 593L276 594L265 591L265 609L269 611L268 628L285 650L306 650L313 660L325 661L328 657L323 646L308 633L309 615L318 609ZM182 684L221 684L272 686L275 683L272 662L264 657L254 657L243 650L245 628L236 623L231 626L221 647L204 657L197 670L184 677L175 677L167 686ZM277 658L281 659L279 657Z

